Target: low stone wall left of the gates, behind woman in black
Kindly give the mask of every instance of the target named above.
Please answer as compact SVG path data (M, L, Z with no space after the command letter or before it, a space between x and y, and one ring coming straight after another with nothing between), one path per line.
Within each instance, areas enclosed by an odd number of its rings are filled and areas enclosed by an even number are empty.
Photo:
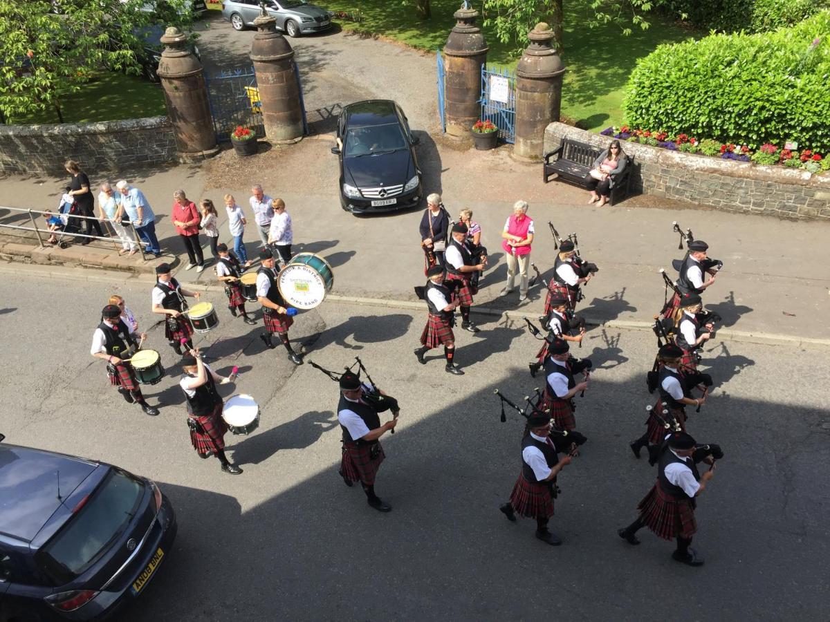
M63 175L66 160L93 173L171 162L173 125L165 117L56 125L0 125L0 174Z

